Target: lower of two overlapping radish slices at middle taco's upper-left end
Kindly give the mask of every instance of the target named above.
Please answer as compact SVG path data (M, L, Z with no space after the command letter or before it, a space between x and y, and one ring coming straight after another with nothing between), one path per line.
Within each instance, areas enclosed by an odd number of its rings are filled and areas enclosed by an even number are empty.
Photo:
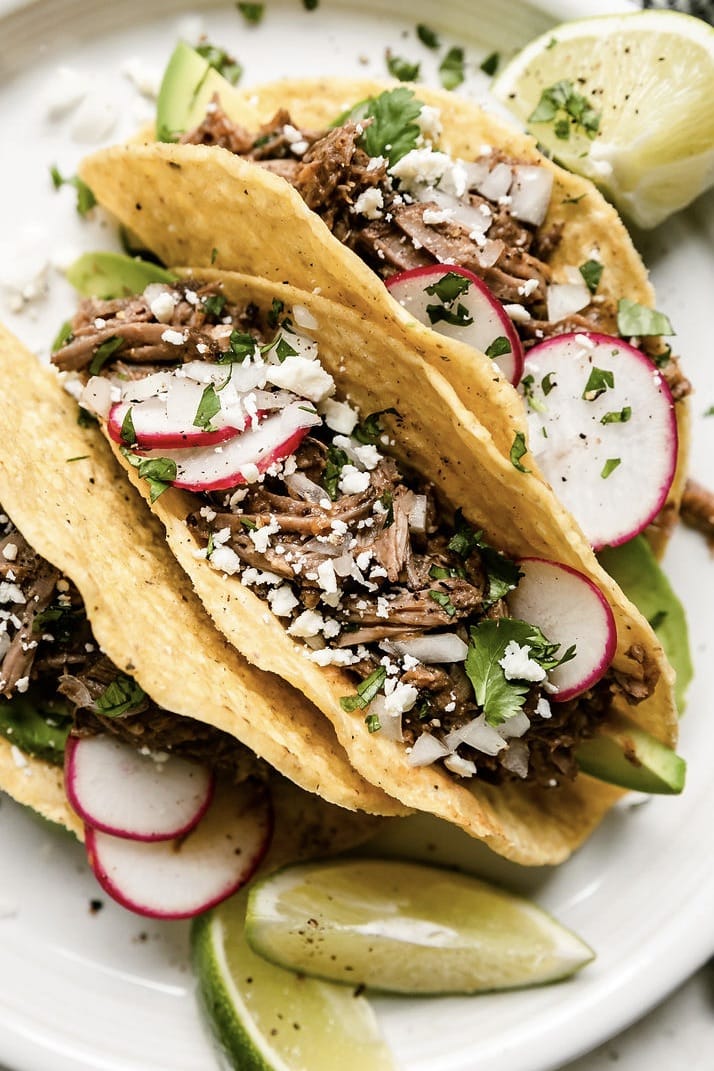
M176 462L174 487L224 491L248 482L252 467L257 472L264 472L275 462L294 453L308 429L320 423L320 417L309 403L292 402L221 446L143 451L141 456Z

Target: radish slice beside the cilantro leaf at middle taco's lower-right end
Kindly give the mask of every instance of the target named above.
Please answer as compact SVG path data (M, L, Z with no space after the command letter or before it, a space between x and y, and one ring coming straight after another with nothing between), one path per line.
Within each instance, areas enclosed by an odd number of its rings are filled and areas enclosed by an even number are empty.
M607 670L618 645L614 617L603 592L569 565L521 558L523 576L507 597L514 617L536 624L560 655L575 645L575 658L552 669L548 681L557 703L591 688Z

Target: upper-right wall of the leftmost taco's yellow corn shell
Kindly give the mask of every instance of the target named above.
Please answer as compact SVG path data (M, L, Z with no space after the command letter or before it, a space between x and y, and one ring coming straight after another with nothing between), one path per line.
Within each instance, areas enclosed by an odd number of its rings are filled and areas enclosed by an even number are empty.
M0 328L0 502L73 578L100 647L166 710L223 729L301 788L373 814L405 808L360 776L302 692L212 627L96 428ZM20 771L21 772L21 771Z

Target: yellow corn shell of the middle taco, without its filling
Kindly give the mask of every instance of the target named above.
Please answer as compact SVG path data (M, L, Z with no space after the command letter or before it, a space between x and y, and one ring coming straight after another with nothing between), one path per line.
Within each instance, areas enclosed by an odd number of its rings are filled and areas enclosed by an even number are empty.
M302 305L317 327L306 331L319 346L320 360L339 392L363 413L393 407L399 419L390 428L398 461L432 480L452 508L482 528L488 542L513 557L535 556L571 565L605 593L618 624L614 668L641 673L633 649L645 653L645 666L658 675L649 699L634 716L659 739L672 743L677 716L672 672L654 633L611 578L550 489L534 474L518 471L503 457L488 432L456 396L451 384L394 334L376 330L358 313L302 290L230 273L200 272L217 280L230 301L270 310L274 299L286 308ZM130 479L147 495L117 449ZM528 462L527 462L528 463ZM382 734L369 734L363 712L346 712L340 697L353 680L335 667L319 667L306 657L279 620L239 577L224 576L195 555L185 518L196 499L168 488L152 509L166 528L169 546L218 629L250 662L273 670L300 689L332 722L356 770L410 808L429 811L477 836L495 850L523 863L564 859L592 831L618 789L578 776L562 788L529 784L491 787L457 783L434 767L410 767L404 748Z

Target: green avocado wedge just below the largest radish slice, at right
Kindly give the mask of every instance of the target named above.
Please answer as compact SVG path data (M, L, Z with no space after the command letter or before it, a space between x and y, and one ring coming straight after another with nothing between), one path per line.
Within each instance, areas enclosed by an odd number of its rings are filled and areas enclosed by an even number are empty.
M620 585L654 629L677 673L677 705L684 711L686 690L694 673L687 621L652 548L643 536L597 555L601 564Z

